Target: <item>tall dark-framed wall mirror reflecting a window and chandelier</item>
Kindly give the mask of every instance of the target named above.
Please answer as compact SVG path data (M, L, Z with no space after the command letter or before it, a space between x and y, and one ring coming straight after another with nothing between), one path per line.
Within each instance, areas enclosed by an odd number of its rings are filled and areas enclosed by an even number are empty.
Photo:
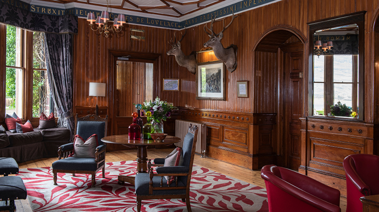
M309 115L363 120L365 13L308 23Z

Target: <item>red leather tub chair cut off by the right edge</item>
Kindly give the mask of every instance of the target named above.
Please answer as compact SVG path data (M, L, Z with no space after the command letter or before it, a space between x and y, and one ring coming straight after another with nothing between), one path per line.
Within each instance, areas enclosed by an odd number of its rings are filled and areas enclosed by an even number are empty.
M346 212L362 212L360 198L379 195L379 156L349 155L343 163L346 172Z

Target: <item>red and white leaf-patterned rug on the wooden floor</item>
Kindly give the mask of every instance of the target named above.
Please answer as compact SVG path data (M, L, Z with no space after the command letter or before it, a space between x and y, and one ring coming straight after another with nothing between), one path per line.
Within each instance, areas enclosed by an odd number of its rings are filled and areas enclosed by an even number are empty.
M58 174L53 185L51 167L20 169L33 212L136 212L134 187L117 184L117 176L136 174L136 161L107 163L106 178ZM190 202L193 212L268 212L266 190L252 184L193 166ZM181 200L142 201L142 212L187 212Z

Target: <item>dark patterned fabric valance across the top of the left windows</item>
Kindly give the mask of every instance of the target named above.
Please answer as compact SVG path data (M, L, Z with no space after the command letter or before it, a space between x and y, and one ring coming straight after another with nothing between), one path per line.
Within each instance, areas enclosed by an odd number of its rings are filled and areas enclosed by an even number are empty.
M1 1L0 22L32 31L78 33L77 16L38 14Z

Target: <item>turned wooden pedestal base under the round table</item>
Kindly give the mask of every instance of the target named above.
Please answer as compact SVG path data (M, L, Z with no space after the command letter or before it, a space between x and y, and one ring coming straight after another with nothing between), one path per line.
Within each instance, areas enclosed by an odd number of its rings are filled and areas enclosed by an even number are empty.
M137 172L147 173L148 171L148 148L147 146L137 146ZM137 173L137 174L138 174ZM118 184L124 185L125 182L134 186L134 180L136 177L119 175Z

